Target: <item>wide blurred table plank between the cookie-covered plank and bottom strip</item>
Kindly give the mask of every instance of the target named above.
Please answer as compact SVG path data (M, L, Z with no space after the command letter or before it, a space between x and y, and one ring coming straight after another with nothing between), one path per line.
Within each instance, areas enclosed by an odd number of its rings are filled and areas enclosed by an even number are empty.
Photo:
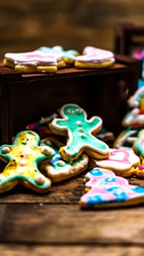
M144 208L82 211L80 206L1 204L0 241L141 245Z

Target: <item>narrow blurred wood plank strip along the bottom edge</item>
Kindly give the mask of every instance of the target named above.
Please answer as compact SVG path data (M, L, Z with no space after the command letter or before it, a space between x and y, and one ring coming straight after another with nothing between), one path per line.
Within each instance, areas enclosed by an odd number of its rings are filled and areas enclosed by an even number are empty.
M1 256L143 256L142 246L41 246L41 245L20 245L0 244Z

